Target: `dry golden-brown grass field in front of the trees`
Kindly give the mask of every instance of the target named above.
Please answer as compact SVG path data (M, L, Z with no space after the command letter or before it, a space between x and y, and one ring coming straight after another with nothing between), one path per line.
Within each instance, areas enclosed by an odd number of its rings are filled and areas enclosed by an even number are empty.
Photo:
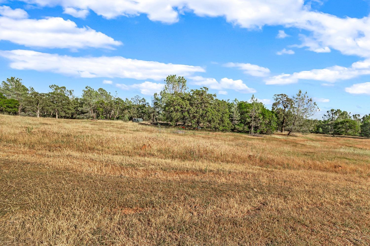
M370 245L370 140L0 115L0 245Z

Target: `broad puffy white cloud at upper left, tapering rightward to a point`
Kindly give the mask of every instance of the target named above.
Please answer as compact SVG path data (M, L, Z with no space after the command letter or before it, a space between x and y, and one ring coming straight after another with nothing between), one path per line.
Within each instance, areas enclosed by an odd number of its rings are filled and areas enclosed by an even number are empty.
M14 19L0 17L0 40L27 47L44 48L108 48L121 45L107 35L89 27L77 27L71 20L60 17L46 19Z

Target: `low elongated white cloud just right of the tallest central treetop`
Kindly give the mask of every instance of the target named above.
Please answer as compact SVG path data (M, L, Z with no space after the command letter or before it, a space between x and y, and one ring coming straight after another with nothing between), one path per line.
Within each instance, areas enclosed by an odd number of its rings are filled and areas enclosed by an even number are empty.
M228 78L222 78L220 82L218 82L214 78L203 78L202 76L190 77L189 79L192 79L192 83L194 85L205 86L208 87L209 89L214 90L231 89L240 93L256 92L255 89L249 88L241 79L233 80Z

